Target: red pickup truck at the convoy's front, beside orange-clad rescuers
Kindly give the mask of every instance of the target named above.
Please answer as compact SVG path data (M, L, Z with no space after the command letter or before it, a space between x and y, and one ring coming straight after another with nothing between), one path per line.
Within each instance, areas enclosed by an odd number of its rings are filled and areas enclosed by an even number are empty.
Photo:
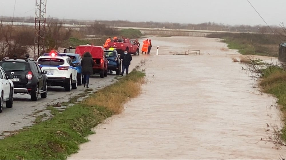
M131 39L118 39L118 42L108 42L108 48L116 48L117 53L124 53L124 50L127 50L130 54L139 55L139 46L135 45Z

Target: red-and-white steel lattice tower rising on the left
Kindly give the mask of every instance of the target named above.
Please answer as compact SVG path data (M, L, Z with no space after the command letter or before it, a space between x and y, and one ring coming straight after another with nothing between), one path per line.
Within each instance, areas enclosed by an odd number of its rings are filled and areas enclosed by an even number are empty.
M46 5L47 0L36 0L34 59L45 50Z

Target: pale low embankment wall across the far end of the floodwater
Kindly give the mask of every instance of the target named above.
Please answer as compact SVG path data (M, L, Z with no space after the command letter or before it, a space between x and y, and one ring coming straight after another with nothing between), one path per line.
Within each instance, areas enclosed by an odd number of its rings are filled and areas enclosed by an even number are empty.
M160 31L160 30L140 30L143 35L151 36L192 36L204 37L211 33L206 32L187 32L187 31Z

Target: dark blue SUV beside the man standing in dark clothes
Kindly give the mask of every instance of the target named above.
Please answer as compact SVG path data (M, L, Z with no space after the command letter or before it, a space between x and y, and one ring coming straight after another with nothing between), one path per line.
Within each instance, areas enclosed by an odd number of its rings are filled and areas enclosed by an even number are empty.
M108 62L107 70L115 71L116 75L120 75L121 60L119 59L117 51L116 50L104 50L104 53L106 55L106 59Z

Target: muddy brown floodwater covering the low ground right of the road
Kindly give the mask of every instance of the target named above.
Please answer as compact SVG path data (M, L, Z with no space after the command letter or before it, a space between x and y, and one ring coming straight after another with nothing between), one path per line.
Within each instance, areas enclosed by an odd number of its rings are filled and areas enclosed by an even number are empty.
M204 37L149 37L160 46L146 59L142 94L96 127L68 159L278 159L285 148L259 142L280 125L276 100L253 88L233 62L236 50ZM167 44L167 45L166 45ZM177 45L178 44L178 45ZM156 46L155 46L156 45ZM177 47L179 46L179 47ZM201 50L201 55L170 51ZM276 58L259 58L275 61ZM140 58L136 58L138 62ZM135 61L134 61L135 62ZM135 64L133 64L133 67ZM267 131L270 129L270 131Z

